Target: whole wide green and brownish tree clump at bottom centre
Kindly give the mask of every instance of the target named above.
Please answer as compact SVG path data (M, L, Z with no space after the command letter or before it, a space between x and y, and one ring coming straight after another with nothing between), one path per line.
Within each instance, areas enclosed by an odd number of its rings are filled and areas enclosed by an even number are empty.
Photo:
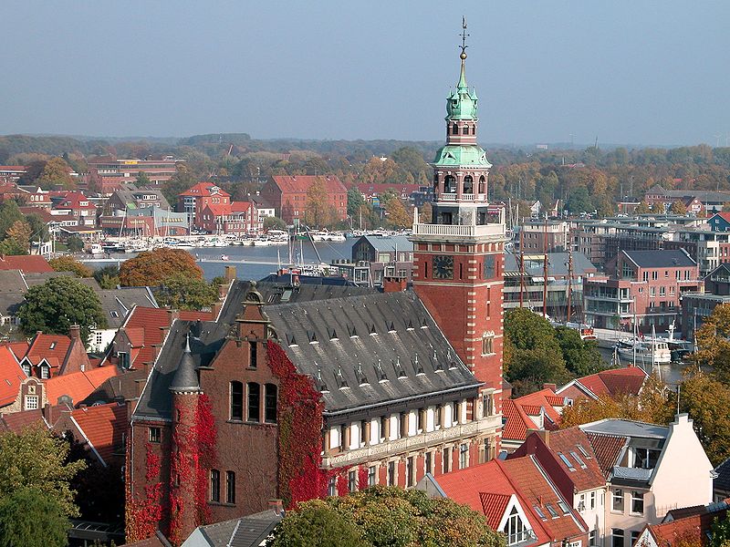
M269 542L273 547L504 547L505 544L504 536L487 526L484 515L467 506L448 499L429 498L421 490L385 486L326 501L305 501L297 511L287 513Z

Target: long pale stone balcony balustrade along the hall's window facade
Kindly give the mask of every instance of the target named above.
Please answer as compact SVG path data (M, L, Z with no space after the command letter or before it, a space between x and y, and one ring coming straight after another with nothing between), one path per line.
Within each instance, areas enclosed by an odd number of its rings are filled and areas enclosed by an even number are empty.
M480 433L492 433L502 427L502 416L495 415L468 422L453 428L442 428L404 437L402 439L386 440L378 444L367 445L360 449L349 449L336 454L325 454L322 458L322 467L342 467L359 465L373 459L383 459L405 452L427 449L447 442L454 442Z

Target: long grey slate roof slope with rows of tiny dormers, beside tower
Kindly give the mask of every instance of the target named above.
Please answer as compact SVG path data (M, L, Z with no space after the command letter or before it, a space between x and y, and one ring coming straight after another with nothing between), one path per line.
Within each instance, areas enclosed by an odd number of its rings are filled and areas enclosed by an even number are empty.
M278 304L266 314L297 371L316 378L326 415L444 391L475 397L481 385L413 293Z

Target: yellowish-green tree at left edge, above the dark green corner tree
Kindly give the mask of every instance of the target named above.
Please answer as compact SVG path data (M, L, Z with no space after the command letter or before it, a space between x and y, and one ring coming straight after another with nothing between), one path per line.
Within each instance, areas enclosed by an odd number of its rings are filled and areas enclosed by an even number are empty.
M69 481L86 468L86 463L69 462L68 450L66 440L41 427L0 434L0 500L6 500L19 487L24 487L56 501L67 517L78 516L74 505L76 492L71 490Z

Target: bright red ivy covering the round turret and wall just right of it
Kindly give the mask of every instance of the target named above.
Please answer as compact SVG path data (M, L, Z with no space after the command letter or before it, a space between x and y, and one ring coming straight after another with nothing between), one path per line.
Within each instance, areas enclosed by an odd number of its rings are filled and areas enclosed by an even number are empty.
M217 429L210 399L207 395L196 397L192 407L175 404L179 417L172 434L172 458L170 462L170 540L182 543L185 511L193 511L195 526L211 521L208 507L208 472L215 462ZM190 416L192 414L193 416ZM193 500L187 499L192 495Z

